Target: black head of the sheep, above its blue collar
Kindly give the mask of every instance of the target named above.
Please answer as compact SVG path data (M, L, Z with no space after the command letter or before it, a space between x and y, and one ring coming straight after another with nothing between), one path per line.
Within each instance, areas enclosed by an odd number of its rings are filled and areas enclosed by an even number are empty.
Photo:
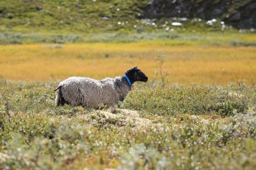
M127 75L129 80L131 81L131 84L133 84L135 81L148 81L148 77L138 67L133 67L132 69L129 69L125 73L125 75Z

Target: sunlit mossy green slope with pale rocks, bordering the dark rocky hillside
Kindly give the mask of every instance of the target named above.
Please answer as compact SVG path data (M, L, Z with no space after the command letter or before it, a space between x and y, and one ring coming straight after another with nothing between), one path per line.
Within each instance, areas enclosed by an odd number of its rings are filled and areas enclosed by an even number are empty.
M0 31L43 35L71 32L83 35L102 32L236 32L232 27L220 24L218 18L213 24L206 24L205 20L198 18L179 20L170 17L139 17L147 4L148 0L3 0L0 2ZM181 22L183 25L172 26L172 22Z

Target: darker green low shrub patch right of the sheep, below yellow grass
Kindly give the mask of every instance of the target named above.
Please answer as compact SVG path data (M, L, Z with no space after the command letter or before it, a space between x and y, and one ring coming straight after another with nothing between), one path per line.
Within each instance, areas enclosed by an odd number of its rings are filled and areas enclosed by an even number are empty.
M239 87L189 86L131 91L125 108L158 115L214 112L232 116L255 105L255 89Z

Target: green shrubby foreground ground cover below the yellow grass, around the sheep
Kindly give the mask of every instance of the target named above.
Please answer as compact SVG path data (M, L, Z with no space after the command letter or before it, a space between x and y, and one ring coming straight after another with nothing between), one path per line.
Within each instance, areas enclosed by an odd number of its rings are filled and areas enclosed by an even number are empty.
M55 107L55 81L0 85L1 169L256 166L255 88L148 83L121 109L88 110Z

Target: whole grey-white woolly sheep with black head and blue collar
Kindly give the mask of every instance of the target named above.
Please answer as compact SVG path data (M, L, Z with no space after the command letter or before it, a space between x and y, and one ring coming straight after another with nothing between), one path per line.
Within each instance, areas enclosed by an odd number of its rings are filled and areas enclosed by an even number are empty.
M138 67L129 69L121 77L108 77L101 81L88 77L69 77L55 89L55 105L67 103L87 108L99 108L100 105L114 107L118 101L124 101L135 81L148 81L148 77Z

